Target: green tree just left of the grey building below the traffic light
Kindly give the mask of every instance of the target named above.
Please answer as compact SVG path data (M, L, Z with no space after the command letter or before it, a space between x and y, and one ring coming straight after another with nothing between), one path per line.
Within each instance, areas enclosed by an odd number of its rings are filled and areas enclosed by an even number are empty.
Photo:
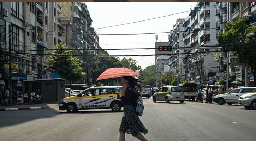
M139 78L145 79L151 86L156 86L156 68L155 65L147 66L140 72Z

